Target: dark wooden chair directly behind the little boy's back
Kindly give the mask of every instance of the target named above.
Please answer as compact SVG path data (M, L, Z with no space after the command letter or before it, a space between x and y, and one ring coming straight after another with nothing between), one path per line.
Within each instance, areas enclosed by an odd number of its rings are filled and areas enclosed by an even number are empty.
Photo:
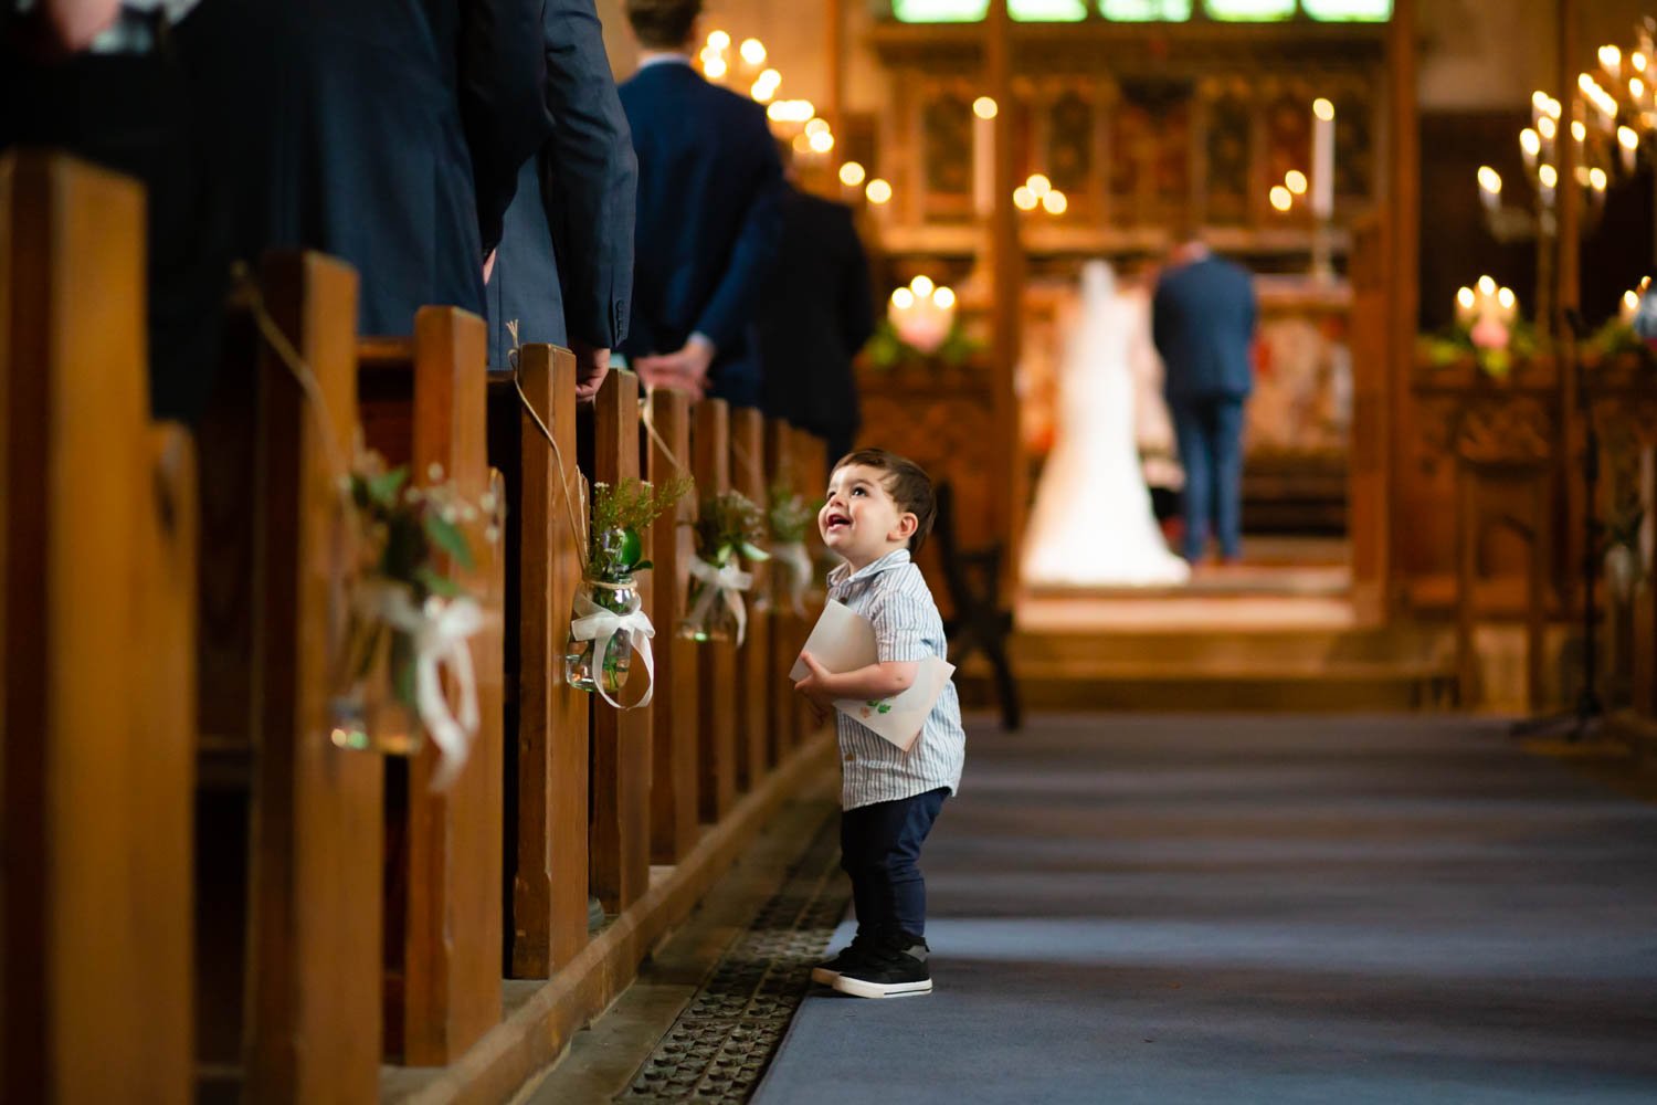
M959 547L954 487L948 480L938 484L938 517L933 522L931 540L938 542L938 558L953 608L953 616L943 626L949 638L949 663L961 666L973 653L983 651L996 679L1001 726L1017 731L1022 711L1019 686L1007 661L1012 611L1001 606L1001 543L981 548Z

